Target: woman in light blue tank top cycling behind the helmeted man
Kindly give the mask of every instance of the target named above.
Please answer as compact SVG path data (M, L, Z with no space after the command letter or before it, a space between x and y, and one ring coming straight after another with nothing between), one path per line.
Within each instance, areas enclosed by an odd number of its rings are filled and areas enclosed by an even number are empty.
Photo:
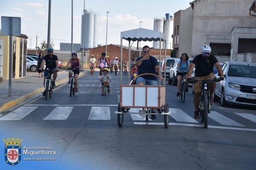
M188 68L190 66L190 62L188 60L188 54L183 53L182 57L180 57L180 60L178 61L177 64L177 80L178 80L178 84L177 84L177 97L179 97L180 95L180 83L182 81L182 72L188 72ZM188 92L188 74L185 75L185 79L186 79L186 92Z

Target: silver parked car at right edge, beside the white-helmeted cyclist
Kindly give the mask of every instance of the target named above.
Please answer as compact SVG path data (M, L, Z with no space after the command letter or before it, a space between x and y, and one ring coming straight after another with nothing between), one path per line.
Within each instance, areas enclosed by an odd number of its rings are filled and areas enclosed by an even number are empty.
M222 71L225 78L216 83L215 101L220 98L221 106L256 106L256 63L225 62Z

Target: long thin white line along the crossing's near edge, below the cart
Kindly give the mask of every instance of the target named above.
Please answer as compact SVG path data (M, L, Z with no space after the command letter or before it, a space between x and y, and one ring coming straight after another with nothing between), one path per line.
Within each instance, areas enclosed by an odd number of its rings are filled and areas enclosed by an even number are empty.
M158 122L133 122L134 125L164 125L164 123ZM204 127L204 125L188 124L188 123L169 123L169 125L179 125L179 126L193 126L193 127ZM250 128L234 128L225 126L212 126L208 125L208 128L219 128L219 129L229 129L229 130L241 130L241 131L256 131L256 129Z

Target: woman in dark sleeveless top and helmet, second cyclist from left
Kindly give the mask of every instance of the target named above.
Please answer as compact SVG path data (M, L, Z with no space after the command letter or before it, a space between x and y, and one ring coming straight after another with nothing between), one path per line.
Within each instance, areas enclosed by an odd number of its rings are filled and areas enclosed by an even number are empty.
M77 52L73 51L71 53L72 58L68 61L66 69L68 68L69 64L71 64L70 71L68 72L68 84L70 84L70 77L72 75L73 69L74 69L74 78L75 78L75 86L76 86L76 92L78 92L78 75L80 74L80 69L82 68L82 63L77 58Z

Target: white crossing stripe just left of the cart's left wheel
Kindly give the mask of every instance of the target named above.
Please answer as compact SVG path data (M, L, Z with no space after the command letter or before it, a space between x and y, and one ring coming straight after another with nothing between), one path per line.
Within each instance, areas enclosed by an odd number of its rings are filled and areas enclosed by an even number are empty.
M92 107L88 120L110 120L109 107Z

